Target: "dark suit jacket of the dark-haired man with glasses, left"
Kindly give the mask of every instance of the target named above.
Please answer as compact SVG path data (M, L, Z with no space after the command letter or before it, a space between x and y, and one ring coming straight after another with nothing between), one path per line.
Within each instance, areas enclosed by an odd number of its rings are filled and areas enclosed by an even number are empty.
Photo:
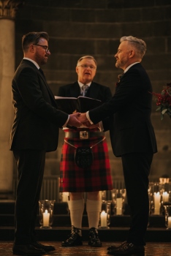
M15 118L10 149L54 151L58 145L58 127L68 115L56 108L56 101L37 67L23 59L12 80Z

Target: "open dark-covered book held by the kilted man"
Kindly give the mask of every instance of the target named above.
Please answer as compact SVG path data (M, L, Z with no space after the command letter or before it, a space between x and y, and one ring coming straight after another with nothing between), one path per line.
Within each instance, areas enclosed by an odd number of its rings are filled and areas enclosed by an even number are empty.
M84 96L79 96L77 98L55 96L55 99L58 105L58 109L68 114L72 114L74 112L85 113L88 110L102 105L101 100Z

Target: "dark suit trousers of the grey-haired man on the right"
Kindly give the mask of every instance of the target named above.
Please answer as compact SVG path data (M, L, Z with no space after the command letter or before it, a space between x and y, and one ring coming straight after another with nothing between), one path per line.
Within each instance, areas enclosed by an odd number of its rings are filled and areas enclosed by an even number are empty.
M121 159L126 195L131 211L131 225L126 241L145 245L149 217L148 176L153 153L125 154Z

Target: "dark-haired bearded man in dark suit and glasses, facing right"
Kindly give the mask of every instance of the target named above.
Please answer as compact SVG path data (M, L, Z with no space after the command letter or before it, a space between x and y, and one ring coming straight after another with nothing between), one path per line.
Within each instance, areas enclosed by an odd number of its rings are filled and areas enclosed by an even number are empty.
M15 118L10 149L18 166L18 188L15 203L14 255L41 255L53 246L37 242L35 224L39 194L45 167L45 153L58 145L58 127L80 127L77 115L57 110L52 91L39 66L50 56L46 32L23 36L24 58L12 79L12 102Z

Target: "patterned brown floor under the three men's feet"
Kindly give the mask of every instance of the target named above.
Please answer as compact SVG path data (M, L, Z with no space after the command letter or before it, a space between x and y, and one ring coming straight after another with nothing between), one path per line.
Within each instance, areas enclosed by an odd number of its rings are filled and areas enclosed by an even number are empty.
M103 242L101 248L90 247L83 242L83 246L75 247L61 247L61 242L50 241L42 242L42 244L50 244L56 247L56 251L50 252L46 256L107 256L107 247L112 243ZM12 255L12 241L0 241L0 255L9 256ZM171 256L171 242L170 243L148 243L145 246L145 256ZM136 255L134 255L136 256Z

